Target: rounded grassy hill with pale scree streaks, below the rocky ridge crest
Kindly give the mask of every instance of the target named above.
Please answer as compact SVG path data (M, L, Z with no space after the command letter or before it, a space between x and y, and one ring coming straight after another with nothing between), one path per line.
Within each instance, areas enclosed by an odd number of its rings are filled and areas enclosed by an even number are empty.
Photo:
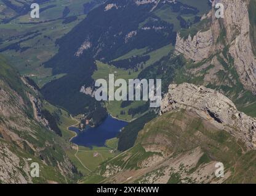
M234 165L241 152L230 134L175 111L146 124L135 145L105 162L100 175L102 183L210 183L224 180L215 178L215 164Z

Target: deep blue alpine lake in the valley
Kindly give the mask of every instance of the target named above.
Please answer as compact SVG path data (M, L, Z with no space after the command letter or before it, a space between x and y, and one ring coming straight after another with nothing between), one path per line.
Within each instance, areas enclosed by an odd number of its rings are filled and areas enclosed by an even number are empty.
M69 129L77 134L71 142L86 147L104 146L106 140L116 137L118 133L121 132L122 127L125 127L127 124L126 121L108 116L98 127L87 126L86 129L82 131L76 127L70 127Z

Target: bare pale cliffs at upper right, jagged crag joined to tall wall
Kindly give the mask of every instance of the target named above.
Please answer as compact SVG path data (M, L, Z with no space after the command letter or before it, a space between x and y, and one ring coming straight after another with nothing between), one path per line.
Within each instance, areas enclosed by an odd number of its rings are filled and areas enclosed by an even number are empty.
M212 10L204 17L209 20L209 28L188 38L178 34L175 49L186 58L200 62L226 48L242 84L256 92L256 60L250 42L250 0L223 0L224 18L215 17L216 2L212 2Z

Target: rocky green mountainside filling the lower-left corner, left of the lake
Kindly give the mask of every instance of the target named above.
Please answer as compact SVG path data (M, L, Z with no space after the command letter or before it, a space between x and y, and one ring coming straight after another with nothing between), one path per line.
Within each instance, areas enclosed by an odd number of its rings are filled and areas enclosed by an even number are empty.
M0 100L0 182L73 181L77 171L63 151L63 148L70 147L50 130L47 120L40 116L38 91L25 78L20 78L2 57ZM33 162L39 164L39 178L30 175Z

